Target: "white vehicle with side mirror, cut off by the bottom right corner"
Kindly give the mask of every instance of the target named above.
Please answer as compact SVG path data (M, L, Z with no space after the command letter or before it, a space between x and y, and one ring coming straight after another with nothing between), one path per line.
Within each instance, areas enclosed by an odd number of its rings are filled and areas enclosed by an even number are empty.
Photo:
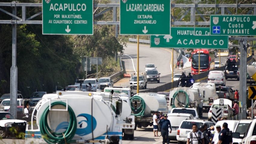
M240 133L232 133L233 138L239 139ZM256 119L248 125L248 128L245 131L244 137L240 144L253 144L256 143Z

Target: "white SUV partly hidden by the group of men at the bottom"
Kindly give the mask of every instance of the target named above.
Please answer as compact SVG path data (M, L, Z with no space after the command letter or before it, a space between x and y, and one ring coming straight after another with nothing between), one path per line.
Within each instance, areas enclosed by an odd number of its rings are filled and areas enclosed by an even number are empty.
M206 121L206 120L200 120L200 119L183 120L181 122L181 125L179 126L179 129L176 135L178 144L187 143L187 134L192 131L193 124L197 125L197 130L199 130L199 127L202 126L203 124L207 125L207 129L210 128L211 126L214 126L213 122Z

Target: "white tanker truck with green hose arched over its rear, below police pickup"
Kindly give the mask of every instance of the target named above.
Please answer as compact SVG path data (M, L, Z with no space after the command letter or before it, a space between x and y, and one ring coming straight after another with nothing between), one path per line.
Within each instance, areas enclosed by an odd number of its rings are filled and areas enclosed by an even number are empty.
M194 108L199 117L203 116L203 102L198 88L178 87L170 91L172 108Z

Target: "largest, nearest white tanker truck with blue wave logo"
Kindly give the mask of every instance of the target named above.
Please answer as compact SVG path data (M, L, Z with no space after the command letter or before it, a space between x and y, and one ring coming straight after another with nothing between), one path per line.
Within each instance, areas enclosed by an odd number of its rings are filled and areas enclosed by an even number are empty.
M32 112L25 143L122 143L123 101L104 101L101 95L80 91L45 94Z

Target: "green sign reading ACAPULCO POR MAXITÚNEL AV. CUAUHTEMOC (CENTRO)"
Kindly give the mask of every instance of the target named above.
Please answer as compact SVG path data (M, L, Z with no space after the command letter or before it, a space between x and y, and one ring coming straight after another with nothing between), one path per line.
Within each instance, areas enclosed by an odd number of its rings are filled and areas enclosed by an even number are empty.
M93 34L93 0L43 0L43 34Z

